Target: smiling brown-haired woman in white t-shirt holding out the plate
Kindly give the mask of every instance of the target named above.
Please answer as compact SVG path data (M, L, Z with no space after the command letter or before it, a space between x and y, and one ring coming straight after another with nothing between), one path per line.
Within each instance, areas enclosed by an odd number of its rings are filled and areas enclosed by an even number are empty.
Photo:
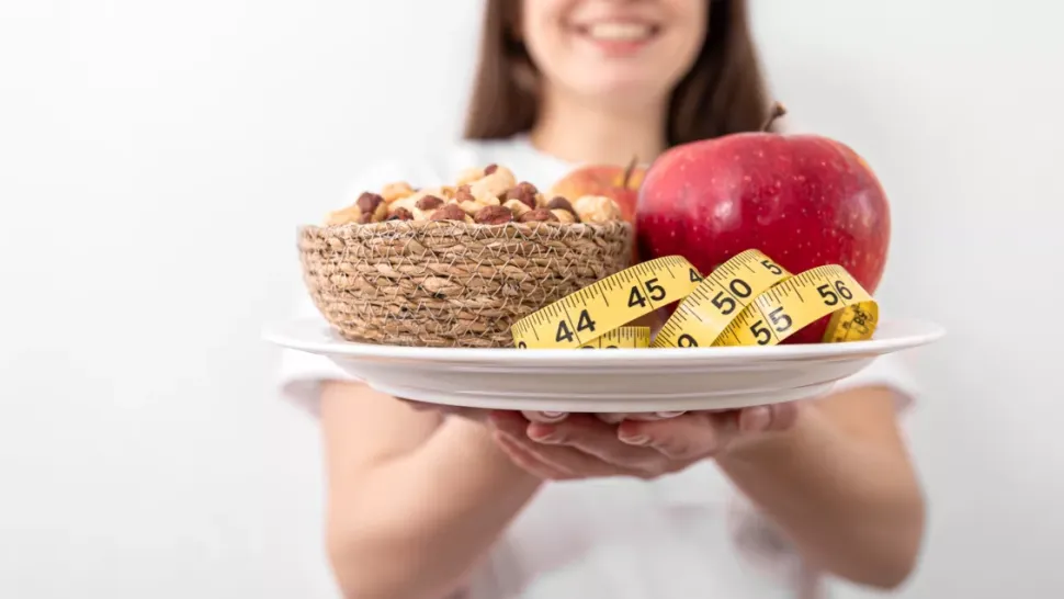
M467 140L355 189L491 162L548 184L756 129L768 106L743 0L494 0ZM621 422L411 409L305 354L284 383L321 418L349 597L817 597L825 575L897 586L920 544L886 361L811 405Z

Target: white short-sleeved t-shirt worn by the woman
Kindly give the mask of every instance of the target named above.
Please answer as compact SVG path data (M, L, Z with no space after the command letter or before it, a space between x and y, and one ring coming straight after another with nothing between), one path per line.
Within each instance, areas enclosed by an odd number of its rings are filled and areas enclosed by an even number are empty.
M366 169L341 204L393 181L444 184L465 168L493 162L541 189L575 167L537 151L525 136L460 143L421 159ZM306 293L299 297L299 316L321 318ZM312 414L317 414L319 383L346 378L326 358L294 351L283 357L282 394ZM870 383L896 388L899 406L915 396L913 381L893 357L878 359L839 386ZM653 482L616 478L545 486L464 592L469 599L824 597L815 574L802 567L711 461Z

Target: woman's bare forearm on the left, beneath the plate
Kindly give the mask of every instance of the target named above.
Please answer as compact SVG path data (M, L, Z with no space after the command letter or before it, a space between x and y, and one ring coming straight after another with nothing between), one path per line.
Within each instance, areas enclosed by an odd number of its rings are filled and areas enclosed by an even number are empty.
M476 422L350 383L321 403L328 551L348 597L448 596L539 488Z

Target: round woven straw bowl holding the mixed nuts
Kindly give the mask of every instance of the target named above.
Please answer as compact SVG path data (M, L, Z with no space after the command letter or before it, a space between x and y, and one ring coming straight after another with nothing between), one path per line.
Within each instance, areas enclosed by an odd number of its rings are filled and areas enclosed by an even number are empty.
M299 229L304 281L349 341L512 347L510 325L629 267L627 223L390 221Z

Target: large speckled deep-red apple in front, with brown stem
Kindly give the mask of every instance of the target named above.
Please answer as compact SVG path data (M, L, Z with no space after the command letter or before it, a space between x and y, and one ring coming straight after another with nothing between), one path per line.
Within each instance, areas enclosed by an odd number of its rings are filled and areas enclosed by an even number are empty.
M818 135L761 132L677 146L649 169L639 191L639 257L680 255L703 273L756 248L791 273L840 264L874 293L886 264L891 215L868 163ZM823 318L789 342L819 342Z

